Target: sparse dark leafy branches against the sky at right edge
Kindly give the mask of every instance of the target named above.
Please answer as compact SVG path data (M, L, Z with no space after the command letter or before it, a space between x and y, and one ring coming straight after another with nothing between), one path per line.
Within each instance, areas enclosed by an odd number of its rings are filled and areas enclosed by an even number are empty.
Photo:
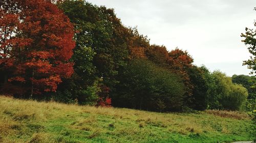
M256 11L256 8L254 8ZM254 26L256 26L256 21L254 21ZM247 45L247 49L252 54L250 59L244 61L243 65L247 65L248 69L251 69L251 74L256 74L256 28L253 30L252 28L245 28L245 34L241 34L241 37L245 38L242 40L245 45Z

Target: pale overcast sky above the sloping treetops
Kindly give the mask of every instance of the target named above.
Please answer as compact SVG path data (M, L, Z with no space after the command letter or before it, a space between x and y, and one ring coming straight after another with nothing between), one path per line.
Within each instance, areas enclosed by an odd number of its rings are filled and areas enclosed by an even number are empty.
M242 61L250 56L241 42L253 27L256 0L88 0L114 8L125 26L137 26L151 44L187 50L195 64L228 76L250 72Z

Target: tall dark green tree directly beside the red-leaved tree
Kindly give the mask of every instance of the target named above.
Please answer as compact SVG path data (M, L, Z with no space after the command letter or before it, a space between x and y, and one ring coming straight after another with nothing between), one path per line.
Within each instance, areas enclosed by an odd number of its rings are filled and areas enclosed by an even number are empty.
M114 91L118 73L129 59L126 38L130 34L129 28L121 24L113 9L74 0L59 2L58 7L70 18L77 31L72 57L75 73L59 86L59 92L71 92L73 98L84 104L88 96L95 97L94 91L89 94L95 82Z

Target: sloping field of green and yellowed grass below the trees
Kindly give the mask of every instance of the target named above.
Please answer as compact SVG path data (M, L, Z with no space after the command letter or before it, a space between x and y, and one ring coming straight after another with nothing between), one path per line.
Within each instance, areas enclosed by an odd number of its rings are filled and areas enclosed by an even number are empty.
M0 142L232 142L252 140L237 112L157 113L0 96Z

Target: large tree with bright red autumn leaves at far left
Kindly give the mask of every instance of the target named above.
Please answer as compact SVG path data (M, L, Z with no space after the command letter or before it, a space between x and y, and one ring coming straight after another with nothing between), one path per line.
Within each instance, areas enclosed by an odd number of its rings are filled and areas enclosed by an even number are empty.
M72 23L49 0L2 0L0 6L0 88L26 96L56 91L73 73Z

